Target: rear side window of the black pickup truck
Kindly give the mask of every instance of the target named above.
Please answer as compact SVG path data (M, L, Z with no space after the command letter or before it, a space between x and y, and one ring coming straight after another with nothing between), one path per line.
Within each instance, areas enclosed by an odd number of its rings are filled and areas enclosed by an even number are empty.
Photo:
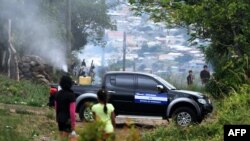
M122 88L133 88L134 87L134 76L128 74L116 75L116 86Z

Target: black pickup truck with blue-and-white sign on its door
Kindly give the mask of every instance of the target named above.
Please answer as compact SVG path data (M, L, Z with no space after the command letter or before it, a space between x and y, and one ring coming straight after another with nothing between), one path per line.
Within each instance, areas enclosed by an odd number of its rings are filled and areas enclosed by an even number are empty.
M138 72L108 72L102 85L74 85L76 112L82 120L92 120L88 103L96 103L100 88L108 91L109 102L116 115L161 116L173 118L178 125L200 123L212 112L211 101L199 92L178 90L167 81L153 74ZM57 85L51 85L50 103Z

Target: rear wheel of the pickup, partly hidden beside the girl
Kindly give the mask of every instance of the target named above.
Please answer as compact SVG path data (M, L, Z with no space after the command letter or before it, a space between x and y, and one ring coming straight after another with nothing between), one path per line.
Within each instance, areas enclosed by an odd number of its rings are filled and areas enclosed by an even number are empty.
M81 121L91 122L94 121L93 113L91 107L96 103L96 101L83 102L79 110L79 118Z

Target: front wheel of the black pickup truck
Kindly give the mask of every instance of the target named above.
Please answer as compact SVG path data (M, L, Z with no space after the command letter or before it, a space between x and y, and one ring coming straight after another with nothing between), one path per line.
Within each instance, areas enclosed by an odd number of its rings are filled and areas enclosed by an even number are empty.
M188 126L197 123L195 111L189 107L179 107L173 112L173 119L179 126Z

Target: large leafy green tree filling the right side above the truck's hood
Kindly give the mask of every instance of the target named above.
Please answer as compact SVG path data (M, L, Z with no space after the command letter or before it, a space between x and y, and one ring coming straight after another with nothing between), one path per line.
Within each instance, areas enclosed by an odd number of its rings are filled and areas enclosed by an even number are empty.
M190 29L191 40L204 39L201 46L213 65L210 86L218 93L249 84L250 3L248 0L129 0L138 13L147 12L156 22ZM210 88L209 85L207 88ZM210 88L212 92L212 88ZM218 94L217 93L217 94ZM216 94L215 94L216 95Z

